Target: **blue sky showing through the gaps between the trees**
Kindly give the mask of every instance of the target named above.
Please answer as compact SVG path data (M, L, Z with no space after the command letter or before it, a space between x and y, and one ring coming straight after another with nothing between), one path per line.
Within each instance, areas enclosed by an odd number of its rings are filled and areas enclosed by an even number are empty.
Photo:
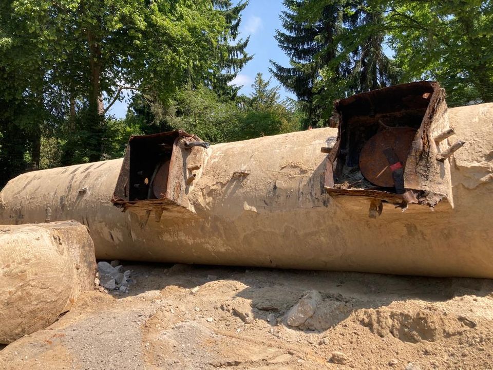
M251 84L257 72L262 73L265 79L271 77L269 72L269 60L275 60L281 65L288 66L289 58L277 46L274 39L276 29L282 29L279 14L284 7L282 0L250 0L247 8L242 13L240 25L241 37L244 39L250 35L247 47L249 54L254 54L253 59L243 67L235 81L236 85L242 85L240 94L249 95L252 91ZM278 85L275 78L271 79L271 86ZM281 87L281 98L294 95ZM116 102L109 113L117 118L125 117L127 102Z

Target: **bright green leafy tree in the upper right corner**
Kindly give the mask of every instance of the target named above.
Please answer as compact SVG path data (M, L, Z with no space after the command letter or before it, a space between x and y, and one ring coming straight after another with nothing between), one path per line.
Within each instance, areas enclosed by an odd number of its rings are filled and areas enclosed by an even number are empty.
M438 80L451 106L493 101L493 3L386 2L402 81Z

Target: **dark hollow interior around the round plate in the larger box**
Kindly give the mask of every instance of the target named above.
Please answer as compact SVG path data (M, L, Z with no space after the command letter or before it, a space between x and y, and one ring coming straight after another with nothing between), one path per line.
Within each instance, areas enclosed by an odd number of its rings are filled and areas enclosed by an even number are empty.
M432 93L433 86L430 82L418 82L387 87L337 101L335 107L340 115L340 143L334 168L334 188L395 192L395 187L378 186L365 178L360 170L360 155L370 139L373 143L377 133L386 131L388 136L397 138L393 141L394 144L408 146L398 148L400 152L406 153L404 156L407 158L411 147L408 138L413 138L419 129ZM404 135L407 138L400 138ZM381 140L377 146L372 146L372 150L383 151L385 146L385 140ZM370 153L373 154L365 149L362 160L374 162L377 156L369 155ZM384 168L389 163L371 165Z

